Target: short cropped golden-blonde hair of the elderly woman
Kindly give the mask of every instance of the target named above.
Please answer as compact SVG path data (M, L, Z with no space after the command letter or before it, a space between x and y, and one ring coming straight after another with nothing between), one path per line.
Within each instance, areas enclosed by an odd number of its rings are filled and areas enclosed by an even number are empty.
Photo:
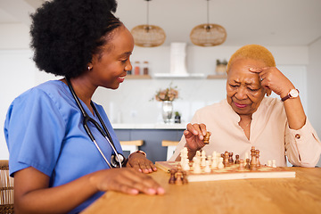
M238 59L259 60L263 61L268 67L276 66L276 62L272 53L270 53L268 49L262 45L244 45L243 47L238 49L235 53L233 53L227 63L227 73L228 70L230 70L233 62Z

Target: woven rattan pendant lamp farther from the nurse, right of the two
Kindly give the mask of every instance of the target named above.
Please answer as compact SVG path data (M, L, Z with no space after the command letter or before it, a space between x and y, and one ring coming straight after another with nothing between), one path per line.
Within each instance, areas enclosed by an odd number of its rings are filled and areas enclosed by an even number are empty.
M207 1L207 23L194 27L190 38L194 45L215 46L221 45L226 40L226 29L218 24L210 24L209 1Z

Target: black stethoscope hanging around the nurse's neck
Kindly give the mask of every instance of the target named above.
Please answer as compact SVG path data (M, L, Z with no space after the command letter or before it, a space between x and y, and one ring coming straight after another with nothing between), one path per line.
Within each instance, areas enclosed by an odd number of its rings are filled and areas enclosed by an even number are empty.
M101 118L99 112L95 108L95 104L92 101L90 102L90 105L93 107L93 110L94 110L95 114L97 115L99 121L101 122L103 128L101 128L99 126L99 124L95 121L95 119L90 118L89 115L86 113L84 107L81 105L81 103L79 101L78 96L76 95L73 87L71 86L70 78L66 78L66 81L67 81L67 85L70 88L71 95L73 96L74 100L78 104L79 110L81 111L82 115L84 116L83 126L84 126L84 128L86 130L87 135L94 142L95 147L101 153L101 155L103 157L103 160L106 161L106 163L108 164L108 166L110 168L121 168L125 164L126 159L125 159L124 155L122 155L121 153L116 151L115 144L113 144L113 141L111 139L111 135L110 135L108 129L106 128L106 126L105 126L105 124L103 122L103 119ZM92 132L90 131L90 129L89 129L88 125L87 125L88 122L91 122L95 126L95 128L97 128L99 130L99 132L103 135L103 137L111 145L111 149L113 150L113 152L115 152L115 154L111 155L111 163L106 159L106 157L104 156L101 148L96 143L95 137L93 136Z

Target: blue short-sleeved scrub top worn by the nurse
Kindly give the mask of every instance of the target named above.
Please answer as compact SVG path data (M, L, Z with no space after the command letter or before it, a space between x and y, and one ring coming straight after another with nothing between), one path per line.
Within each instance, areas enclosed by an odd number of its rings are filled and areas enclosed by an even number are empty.
M80 101L87 114L99 124ZM108 128L116 150L122 153L119 140L101 105L95 103ZM111 161L110 144L88 123L105 157ZM83 127L83 116L70 89L60 80L45 82L17 97L9 107L4 122L4 136L9 149L9 168L14 172L33 167L50 177L50 187L64 185L78 177L109 169ZM103 193L96 193L70 213L83 210ZM76 195L75 195L76 197Z

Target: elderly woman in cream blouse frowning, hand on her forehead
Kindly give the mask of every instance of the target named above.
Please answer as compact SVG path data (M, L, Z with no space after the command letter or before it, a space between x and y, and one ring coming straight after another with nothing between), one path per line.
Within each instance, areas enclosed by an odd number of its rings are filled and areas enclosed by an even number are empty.
M272 92L281 99L266 97ZM210 144L203 143L209 131ZM259 160L286 166L314 167L321 144L300 102L299 90L276 69L272 53L260 45L245 45L227 65L226 100L196 111L170 161L183 147L192 160L196 151L234 152L243 159L255 146ZM177 157L178 156L178 157Z

